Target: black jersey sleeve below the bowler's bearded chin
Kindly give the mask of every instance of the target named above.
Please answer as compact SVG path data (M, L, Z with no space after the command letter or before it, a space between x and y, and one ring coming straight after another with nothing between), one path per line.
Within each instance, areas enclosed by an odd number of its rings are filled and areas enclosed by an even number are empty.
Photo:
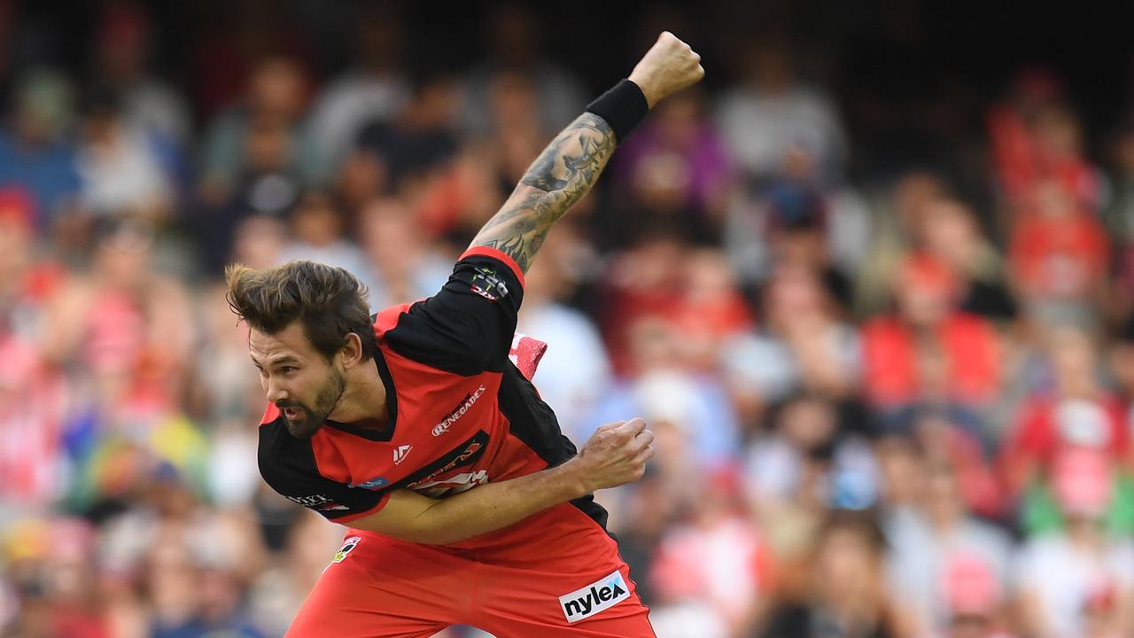
M329 520L366 512L382 500L382 492L350 487L320 475L311 442L288 434L282 417L260 426L256 456L260 475L272 489Z

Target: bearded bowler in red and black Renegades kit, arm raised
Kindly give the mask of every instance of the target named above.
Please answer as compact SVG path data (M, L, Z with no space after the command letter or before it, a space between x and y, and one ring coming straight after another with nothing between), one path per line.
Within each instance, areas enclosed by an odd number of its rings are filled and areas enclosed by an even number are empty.
M543 151L430 299L369 316L341 269L227 269L269 402L261 473L350 526L289 637L654 635L591 496L641 478L653 435L641 419L611 423L576 454L528 380L539 344L514 333L551 225L650 107L703 75L662 33Z

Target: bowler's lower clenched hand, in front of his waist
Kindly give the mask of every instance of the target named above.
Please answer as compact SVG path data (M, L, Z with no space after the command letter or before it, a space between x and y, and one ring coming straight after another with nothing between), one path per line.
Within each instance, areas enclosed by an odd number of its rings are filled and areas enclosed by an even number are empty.
M653 433L638 417L600 427L565 465L574 465L587 493L636 481L653 457Z

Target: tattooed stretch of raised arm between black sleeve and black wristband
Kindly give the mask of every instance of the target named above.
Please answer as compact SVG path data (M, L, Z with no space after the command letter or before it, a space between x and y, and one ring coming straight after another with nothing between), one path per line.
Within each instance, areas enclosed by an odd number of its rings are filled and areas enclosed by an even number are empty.
M616 144L613 131L601 117L578 116L528 167L473 245L502 251L526 272L551 225L591 190Z

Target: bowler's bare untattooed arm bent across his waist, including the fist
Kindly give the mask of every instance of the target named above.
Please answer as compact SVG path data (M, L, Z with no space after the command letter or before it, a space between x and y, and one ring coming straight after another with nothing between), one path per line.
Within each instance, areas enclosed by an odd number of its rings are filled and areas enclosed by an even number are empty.
M448 498L411 489L390 495L382 510L350 527L429 545L459 543L519 522L553 505L642 478L653 456L653 433L631 419L599 428L578 455L562 465L489 482Z

